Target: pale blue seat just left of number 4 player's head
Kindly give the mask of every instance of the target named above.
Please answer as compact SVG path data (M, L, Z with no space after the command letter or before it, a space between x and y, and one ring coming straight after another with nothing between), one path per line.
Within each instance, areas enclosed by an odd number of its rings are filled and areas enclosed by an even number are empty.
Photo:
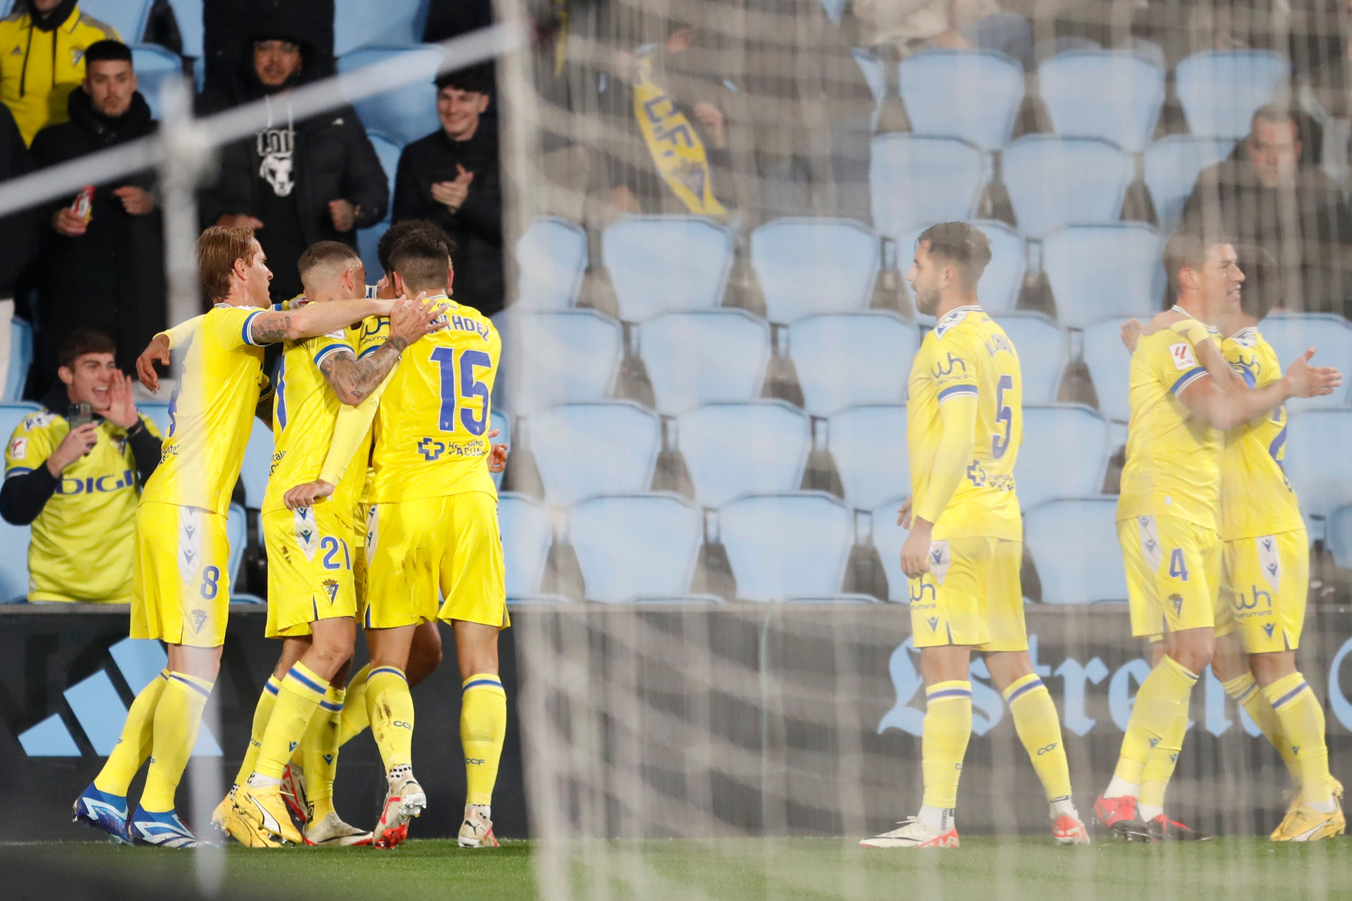
M1138 222L1076 226L1042 239L1042 269L1056 319L1084 328L1105 316L1148 319L1160 311L1164 236Z

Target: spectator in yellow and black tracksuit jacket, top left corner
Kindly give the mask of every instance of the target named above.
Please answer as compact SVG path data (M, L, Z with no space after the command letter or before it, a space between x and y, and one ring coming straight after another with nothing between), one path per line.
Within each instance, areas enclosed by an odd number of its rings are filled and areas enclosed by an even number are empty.
M132 35L132 39L135 35ZM84 51L118 30L76 8L76 0L18 0L0 19L0 103L31 145L46 126L69 119L66 99L84 81Z

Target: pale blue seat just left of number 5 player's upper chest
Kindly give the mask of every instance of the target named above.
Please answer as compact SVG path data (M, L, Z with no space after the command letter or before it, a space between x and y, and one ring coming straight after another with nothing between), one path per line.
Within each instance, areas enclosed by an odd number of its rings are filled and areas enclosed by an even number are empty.
M788 327L788 358L814 416L903 403L919 347L919 328L891 312L807 316Z

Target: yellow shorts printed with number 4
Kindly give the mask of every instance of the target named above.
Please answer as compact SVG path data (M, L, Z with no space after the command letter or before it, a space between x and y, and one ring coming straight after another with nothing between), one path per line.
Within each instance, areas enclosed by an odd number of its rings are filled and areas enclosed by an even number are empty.
M1230 608L1221 600L1221 536L1176 516L1136 516L1119 520L1117 539L1132 602L1132 635L1213 627L1217 635L1234 629Z

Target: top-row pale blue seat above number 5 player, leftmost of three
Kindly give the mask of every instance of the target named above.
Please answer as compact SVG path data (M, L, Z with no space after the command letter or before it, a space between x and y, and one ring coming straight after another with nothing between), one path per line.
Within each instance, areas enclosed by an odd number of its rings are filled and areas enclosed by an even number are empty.
M1023 101L1023 66L982 50L922 50L900 62L899 82L911 130L999 150Z

